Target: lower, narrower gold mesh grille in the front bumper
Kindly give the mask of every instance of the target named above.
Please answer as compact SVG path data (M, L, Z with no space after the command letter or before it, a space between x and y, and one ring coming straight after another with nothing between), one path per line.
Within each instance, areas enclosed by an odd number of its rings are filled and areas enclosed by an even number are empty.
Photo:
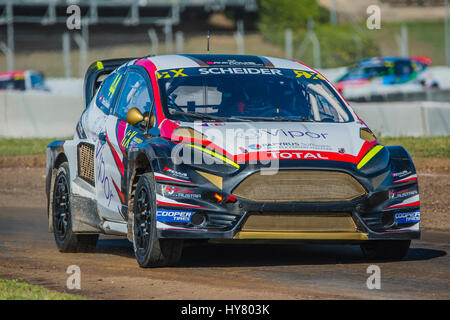
M250 232L356 232L349 212L283 212L252 214L241 231Z

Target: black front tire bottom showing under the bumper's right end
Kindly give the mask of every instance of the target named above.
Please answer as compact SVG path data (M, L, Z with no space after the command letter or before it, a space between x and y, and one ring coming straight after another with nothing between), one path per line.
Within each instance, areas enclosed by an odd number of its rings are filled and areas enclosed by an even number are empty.
M369 260L401 260L410 244L411 240L371 240L361 244L361 251Z

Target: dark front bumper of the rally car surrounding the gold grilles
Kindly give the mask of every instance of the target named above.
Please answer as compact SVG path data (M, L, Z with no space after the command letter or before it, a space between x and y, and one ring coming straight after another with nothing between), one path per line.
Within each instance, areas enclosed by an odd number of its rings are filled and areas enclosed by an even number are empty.
M167 169L167 168L166 168ZM408 180L396 183L395 172L399 168L389 165L385 170L376 174L366 175L357 170L355 165L345 162L321 162L311 160L299 160L280 163L280 170L321 170L324 172L346 173L356 179L366 190L364 195L347 201L318 201L318 202L273 202L252 201L241 197L234 197L234 201L228 201L236 186L250 175L258 172L261 168L245 166L238 172L223 176L222 188L214 185L198 170L188 173L189 179L157 179L157 192L164 194L167 185L178 188L189 188L200 194L199 198L177 199L183 205L171 205L160 202L158 209L166 210L190 210L205 217L202 225L192 223L158 223L158 236L160 238L182 238L182 239L280 239L280 240L337 240L337 241L364 241L364 240L410 240L420 238L419 222L409 224L398 224L394 214L402 210L419 210L418 205L402 207L404 199L392 197L398 190L409 190L417 193L417 180ZM186 168L171 168L173 172L183 171ZM169 170L170 172L170 170ZM394 174L393 174L394 173ZM168 174L168 171L165 172ZM411 172L415 174L415 172ZM159 191L158 191L159 190ZM218 201L214 195L219 195L222 200ZM391 207L391 208L390 208ZM327 215L348 215L354 223L353 229L333 228L333 220L330 226L321 225L320 228L307 230L301 227L288 228L289 230L277 230L272 227L266 229L251 230L246 228L250 217L277 215L283 217L306 217L312 216L320 221L326 221ZM301 220L302 218L300 218Z

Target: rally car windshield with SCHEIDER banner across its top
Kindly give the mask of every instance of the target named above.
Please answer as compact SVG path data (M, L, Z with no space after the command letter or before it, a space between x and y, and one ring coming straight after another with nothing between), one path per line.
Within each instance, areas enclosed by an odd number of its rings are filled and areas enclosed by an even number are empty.
M164 112L174 120L353 121L341 98L314 72L189 68L157 75Z

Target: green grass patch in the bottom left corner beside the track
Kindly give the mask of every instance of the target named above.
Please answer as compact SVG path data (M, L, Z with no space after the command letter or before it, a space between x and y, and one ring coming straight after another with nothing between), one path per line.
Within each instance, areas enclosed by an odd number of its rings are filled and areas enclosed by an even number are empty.
M86 298L34 286L19 279L0 279L0 300L86 300Z

